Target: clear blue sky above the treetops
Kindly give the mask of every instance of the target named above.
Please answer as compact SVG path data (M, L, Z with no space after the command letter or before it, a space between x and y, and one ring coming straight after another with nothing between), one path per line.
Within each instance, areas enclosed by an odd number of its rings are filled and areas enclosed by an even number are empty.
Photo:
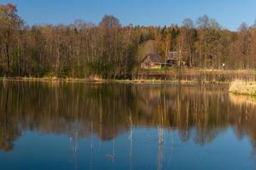
M196 20L207 14L221 26L236 30L241 22L256 19L256 0L0 0L15 3L28 25L69 24L76 19L98 23L113 14L123 25L180 25L184 18Z

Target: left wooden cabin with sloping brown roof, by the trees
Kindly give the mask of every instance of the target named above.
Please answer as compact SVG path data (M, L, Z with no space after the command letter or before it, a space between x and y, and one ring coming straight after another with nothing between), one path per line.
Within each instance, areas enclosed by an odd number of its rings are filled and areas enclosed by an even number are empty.
M159 54L148 54L141 62L141 68L143 69L157 69L161 68L165 64L165 59Z

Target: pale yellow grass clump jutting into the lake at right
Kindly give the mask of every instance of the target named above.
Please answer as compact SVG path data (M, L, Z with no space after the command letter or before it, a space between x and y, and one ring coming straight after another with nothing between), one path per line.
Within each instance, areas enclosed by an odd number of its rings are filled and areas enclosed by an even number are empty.
M256 95L256 82L236 80L231 82L230 92L233 94Z

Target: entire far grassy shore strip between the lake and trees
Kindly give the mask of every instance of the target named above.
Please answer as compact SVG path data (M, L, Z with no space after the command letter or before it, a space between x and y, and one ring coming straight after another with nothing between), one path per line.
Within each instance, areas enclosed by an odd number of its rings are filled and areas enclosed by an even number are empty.
M243 82L256 82L256 71L254 70L204 70L204 69L182 69L182 70L142 70L138 71L131 79L102 78L90 76L84 78L76 77L0 77L0 81L22 81L22 82L127 82L127 83L162 83L178 82L187 84L202 83L231 83L235 80Z

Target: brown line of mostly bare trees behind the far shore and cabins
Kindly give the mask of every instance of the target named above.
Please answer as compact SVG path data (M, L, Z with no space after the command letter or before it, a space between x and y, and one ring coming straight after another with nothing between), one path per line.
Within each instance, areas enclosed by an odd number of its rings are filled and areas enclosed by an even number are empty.
M207 15L183 26L121 26L105 15L98 24L26 26L13 4L0 5L1 77L131 78L145 54L182 53L189 67L253 69L256 27L238 31Z

